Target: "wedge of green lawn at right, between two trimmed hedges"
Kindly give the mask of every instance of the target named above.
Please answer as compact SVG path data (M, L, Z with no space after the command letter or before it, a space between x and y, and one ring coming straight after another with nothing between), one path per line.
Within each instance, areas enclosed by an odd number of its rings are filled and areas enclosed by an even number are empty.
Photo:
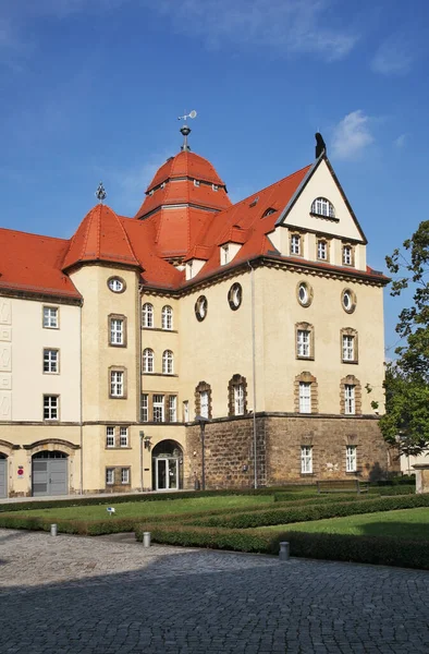
M363 513L347 518L330 518L315 522L295 522L260 528L275 531L306 533L352 534L358 536L396 536L429 541L429 508L403 509Z

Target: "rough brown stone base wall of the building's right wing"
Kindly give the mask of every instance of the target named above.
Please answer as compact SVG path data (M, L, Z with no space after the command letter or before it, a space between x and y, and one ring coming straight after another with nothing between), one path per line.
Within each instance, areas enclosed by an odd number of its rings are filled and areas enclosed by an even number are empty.
M258 486L315 483L348 476L377 481L400 471L373 416L303 416L260 414L256 417ZM356 446L357 470L346 472L346 446ZM312 448L312 473L301 472L301 448ZM205 432L206 488L254 486L253 416L213 421ZM185 488L201 484L199 426L186 431Z

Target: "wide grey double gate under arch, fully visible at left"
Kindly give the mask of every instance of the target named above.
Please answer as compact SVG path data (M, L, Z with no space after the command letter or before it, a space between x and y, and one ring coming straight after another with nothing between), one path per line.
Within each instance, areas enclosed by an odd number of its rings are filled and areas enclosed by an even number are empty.
M32 457L32 495L66 495L69 456L60 450L42 450Z

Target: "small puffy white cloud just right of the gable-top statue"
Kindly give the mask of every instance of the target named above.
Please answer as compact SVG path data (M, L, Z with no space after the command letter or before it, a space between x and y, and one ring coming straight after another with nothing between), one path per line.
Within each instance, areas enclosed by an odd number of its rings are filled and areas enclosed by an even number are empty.
M338 159L353 159L373 143L370 131L371 118L361 109L347 113L335 125L332 135L332 152Z

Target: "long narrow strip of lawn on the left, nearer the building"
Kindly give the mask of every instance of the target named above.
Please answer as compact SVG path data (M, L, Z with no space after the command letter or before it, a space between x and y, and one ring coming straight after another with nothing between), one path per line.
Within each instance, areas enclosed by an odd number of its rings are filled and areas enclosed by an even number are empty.
M52 520L102 520L106 519L107 507L115 508L118 518L146 518L150 516L171 516L173 513L195 513L211 509L249 508L263 509L273 505L272 495L222 495L218 497L198 497L187 499L164 499L159 501L130 501L115 505L114 501L91 506L56 507L53 509L26 509L14 511L14 516L34 516ZM112 517L111 520L114 520Z

